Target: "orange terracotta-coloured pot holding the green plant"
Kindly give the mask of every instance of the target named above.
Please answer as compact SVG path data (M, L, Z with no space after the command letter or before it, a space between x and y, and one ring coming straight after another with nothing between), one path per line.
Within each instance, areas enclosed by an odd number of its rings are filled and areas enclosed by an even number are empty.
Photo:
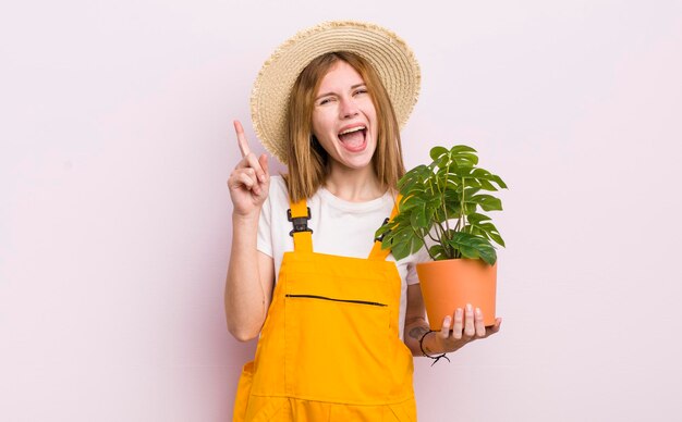
M430 328L440 330L446 315L472 303L483 311L486 326L495 325L497 262L450 259L417 264L422 296Z

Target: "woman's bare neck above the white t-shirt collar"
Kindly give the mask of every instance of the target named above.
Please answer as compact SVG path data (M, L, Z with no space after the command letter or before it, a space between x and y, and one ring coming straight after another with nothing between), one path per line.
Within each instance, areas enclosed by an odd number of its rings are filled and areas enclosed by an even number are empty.
M370 201L385 194L372 165L362 170L332 166L325 187L336 197L350 202Z

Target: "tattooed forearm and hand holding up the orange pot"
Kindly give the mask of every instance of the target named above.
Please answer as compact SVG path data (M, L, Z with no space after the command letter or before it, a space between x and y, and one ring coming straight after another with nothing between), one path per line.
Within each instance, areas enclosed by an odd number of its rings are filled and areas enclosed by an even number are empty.
M407 286L407 310L405 312L405 345L413 356L424 356L419 348L419 339L424 337L424 351L430 356L447 353L462 348L476 339L486 338L500 330L502 319L498 318L495 325L486 328L480 309L471 305L466 309L458 308L452 316L448 315L439 332L429 333L430 328L424 318L424 298L418 284ZM452 328L451 328L452 327Z

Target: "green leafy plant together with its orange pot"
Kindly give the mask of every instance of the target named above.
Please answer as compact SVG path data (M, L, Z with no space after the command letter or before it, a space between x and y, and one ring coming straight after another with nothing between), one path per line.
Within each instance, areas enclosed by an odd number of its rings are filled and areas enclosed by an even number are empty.
M478 167L476 150L458 145L435 147L428 165L410 170L398 183L399 213L377 231L382 248L401 259L422 247L433 262L417 264L431 330L466 303L479 307L486 326L495 324L497 253L504 240L483 211L502 210L485 191L507 188Z

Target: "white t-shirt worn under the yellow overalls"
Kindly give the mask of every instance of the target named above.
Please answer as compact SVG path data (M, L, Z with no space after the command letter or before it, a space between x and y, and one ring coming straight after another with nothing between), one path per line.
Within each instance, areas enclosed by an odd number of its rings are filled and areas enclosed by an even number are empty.
M374 235L393 209L393 197L382 197L367 202L349 202L321 187L307 199L310 209L308 227L313 229L313 250L320 253L353 258L367 258L374 246ZM284 252L294 249L293 228L287 219L289 194L282 176L272 176L270 193L260 211L257 248L275 260L275 272L279 277ZM392 255L387 260L395 261ZM399 333L403 337L407 285L419 283L416 264L428 260L424 248L397 262L402 281L399 312Z

